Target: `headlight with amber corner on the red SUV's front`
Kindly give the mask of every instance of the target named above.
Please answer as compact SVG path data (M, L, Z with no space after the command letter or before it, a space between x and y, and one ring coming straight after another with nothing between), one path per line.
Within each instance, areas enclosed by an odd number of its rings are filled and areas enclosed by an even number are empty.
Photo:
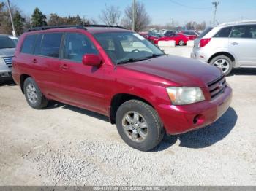
M167 87L173 105L186 105L205 100L200 87Z

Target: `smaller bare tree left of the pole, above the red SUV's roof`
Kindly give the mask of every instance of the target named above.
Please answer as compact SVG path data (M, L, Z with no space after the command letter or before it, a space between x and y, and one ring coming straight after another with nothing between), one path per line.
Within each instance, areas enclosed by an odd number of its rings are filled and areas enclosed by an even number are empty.
M99 20L108 26L118 26L121 17L121 11L119 7L105 7L102 13L99 15Z

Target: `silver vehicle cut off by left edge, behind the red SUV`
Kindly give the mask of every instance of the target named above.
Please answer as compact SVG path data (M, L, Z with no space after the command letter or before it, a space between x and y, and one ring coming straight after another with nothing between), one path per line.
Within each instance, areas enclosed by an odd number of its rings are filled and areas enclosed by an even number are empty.
M18 39L0 34L0 82L12 79L12 57Z

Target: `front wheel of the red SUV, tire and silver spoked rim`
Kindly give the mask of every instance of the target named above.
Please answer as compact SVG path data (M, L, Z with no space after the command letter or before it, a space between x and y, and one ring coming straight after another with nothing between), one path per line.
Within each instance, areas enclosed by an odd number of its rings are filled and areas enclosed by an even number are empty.
M138 100L129 100L119 106L116 112L116 126L124 142L140 151L154 149L165 135L157 112Z

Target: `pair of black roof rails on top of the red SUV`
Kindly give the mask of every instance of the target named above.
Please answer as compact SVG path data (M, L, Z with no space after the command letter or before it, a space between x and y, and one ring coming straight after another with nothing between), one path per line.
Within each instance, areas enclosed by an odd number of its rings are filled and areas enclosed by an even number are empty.
M63 26L39 26L34 28L29 28L28 32L30 31L42 31L42 30L48 30L52 28L78 28L78 29L85 29L86 27L111 27L111 28L122 28L126 29L122 26L108 26L108 25L63 25Z

